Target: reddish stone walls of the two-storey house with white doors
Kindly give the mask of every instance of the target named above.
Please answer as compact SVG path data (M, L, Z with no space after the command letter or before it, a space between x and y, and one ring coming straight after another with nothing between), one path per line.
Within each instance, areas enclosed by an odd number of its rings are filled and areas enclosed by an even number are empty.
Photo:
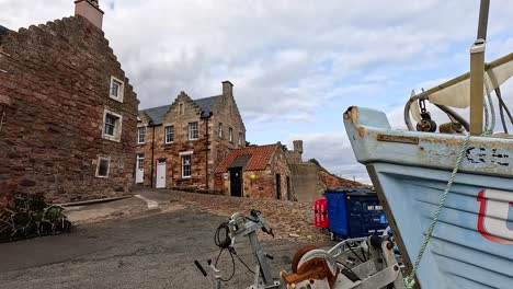
M224 84L226 85L226 84ZM230 84L231 85L231 84ZM180 104L183 113L179 112ZM151 185L151 165L153 165L153 186L157 177L157 160L166 159L166 186L213 189L215 187L215 171L226 155L236 148L246 146L246 128L235 103L231 90L225 92L213 106L213 116L202 118L201 108L184 92L170 106L161 126L147 127L146 142L137 146L137 153L145 154L144 185ZM142 126L149 125L149 119L142 117ZM189 124L197 122L198 139L189 140ZM218 124L223 123L224 136L218 137ZM164 127L174 127L173 143L164 143ZM233 128L233 141L228 140L228 128ZM208 128L208 131L207 131ZM155 129L153 161L151 160L151 141ZM207 135L208 132L208 135ZM242 146L238 144L239 132L242 134ZM182 177L180 152L193 151L191 155L192 177Z

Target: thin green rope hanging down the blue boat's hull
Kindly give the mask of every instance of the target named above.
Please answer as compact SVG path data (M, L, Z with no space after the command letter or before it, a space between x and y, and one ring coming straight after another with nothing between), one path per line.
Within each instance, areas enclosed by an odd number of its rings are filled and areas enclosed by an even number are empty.
M433 234L435 224L438 221L440 213L442 212L442 209L445 206L445 201L447 200L448 193L449 193L451 188L453 187L453 183L454 183L454 180L456 178L456 174L458 173L459 165L461 164L463 157L464 157L465 152L467 151L468 140L469 139L470 139L470 135L467 134L465 136L464 142L461 144L461 149L459 150L458 158L456 159L456 165L453 169L453 173L451 174L451 178L449 178L449 181L447 183L447 186L445 187L444 194L442 195L442 199L440 200L438 207L436 208L436 211L433 215L433 220L431 221L430 227L428 228L428 232L426 232L426 234L424 236L424 241L422 242L422 246L421 246L421 248L419 251L419 255L417 255L417 259L415 259L415 263L413 265L413 269L411 270L410 275L408 275L408 277L404 278L404 286L408 289L413 288L413 286L415 285L415 274L417 274L417 270L419 268L420 262L422 259L422 255L424 255L424 251L428 247L428 243L430 242L431 235Z

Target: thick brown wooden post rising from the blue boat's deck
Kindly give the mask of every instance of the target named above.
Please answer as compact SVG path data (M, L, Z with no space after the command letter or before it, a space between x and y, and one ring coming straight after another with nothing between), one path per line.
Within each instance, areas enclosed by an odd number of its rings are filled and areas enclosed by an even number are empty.
M482 135L485 104L485 41L477 39L470 48L470 135Z

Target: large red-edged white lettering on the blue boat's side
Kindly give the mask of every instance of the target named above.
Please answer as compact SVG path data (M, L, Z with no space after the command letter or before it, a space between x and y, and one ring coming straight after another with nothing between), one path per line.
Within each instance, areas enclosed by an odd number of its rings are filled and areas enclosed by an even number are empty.
M486 239L513 245L513 226L509 221L513 210L513 193L497 189L479 192L477 201L479 207L478 231Z

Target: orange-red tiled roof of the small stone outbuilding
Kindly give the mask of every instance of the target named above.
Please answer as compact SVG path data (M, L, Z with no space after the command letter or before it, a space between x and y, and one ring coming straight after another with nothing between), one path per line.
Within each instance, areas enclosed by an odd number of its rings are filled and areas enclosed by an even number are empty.
M220 163L219 167L217 169L217 173L225 173L228 171L229 167L235 167L231 164L236 160L241 160L239 157L249 155L246 165L243 166L243 171L260 171L265 170L267 164L271 163L271 158L273 153L276 151L277 144L267 144L267 146L259 146L259 147L247 147L242 149L232 150L226 159ZM243 158L246 159L246 158Z

